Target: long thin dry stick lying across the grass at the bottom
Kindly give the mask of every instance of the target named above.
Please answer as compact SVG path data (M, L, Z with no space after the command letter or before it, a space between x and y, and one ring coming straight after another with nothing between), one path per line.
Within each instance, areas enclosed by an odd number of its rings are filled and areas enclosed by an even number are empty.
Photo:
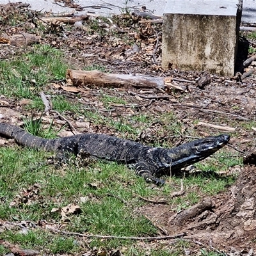
M102 236L102 235L93 235L93 234L81 234L77 232L68 232L63 230L58 230L54 228L47 228L47 230L50 230L52 232L69 235L69 236L81 236L81 237L97 237L97 238L103 238L103 239L126 239L126 240L166 240L166 239L176 239L182 236L186 236L186 233L180 233L174 236L148 236L148 237L136 237L136 236Z

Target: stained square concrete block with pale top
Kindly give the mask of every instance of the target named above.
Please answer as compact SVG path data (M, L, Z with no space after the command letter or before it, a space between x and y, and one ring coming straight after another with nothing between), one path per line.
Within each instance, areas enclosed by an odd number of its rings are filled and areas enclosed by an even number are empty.
M234 76L241 4L239 0L168 1L162 67Z

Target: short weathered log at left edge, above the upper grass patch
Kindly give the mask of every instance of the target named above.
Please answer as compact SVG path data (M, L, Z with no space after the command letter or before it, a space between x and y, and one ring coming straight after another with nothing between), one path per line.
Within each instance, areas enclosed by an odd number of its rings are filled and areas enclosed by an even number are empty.
M20 33L13 36L1 36L0 44L10 44L17 47L30 45L40 41L41 36L36 36L28 33Z

